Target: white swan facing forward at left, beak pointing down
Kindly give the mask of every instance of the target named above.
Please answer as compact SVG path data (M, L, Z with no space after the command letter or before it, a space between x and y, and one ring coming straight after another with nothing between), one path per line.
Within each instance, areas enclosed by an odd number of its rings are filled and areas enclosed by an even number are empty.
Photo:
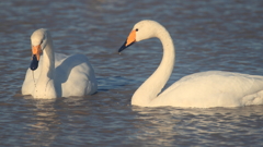
M55 53L50 33L45 28L32 34L31 44L32 62L25 74L22 95L52 99L96 91L94 70L85 56Z

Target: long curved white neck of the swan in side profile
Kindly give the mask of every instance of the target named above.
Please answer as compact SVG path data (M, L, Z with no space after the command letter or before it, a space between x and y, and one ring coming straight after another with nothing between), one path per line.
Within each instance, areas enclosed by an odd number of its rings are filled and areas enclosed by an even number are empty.
M147 106L157 98L172 74L175 60L172 38L165 28L158 29L156 37L162 42L162 61L155 73L135 91L132 105Z

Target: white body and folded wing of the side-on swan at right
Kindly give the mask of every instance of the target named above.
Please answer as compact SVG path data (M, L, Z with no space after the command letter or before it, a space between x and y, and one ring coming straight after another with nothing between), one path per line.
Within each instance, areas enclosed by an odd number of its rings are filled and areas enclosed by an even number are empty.
M210 71L185 76L152 100L178 107L239 107L263 99L263 76ZM170 105L171 106L171 105Z

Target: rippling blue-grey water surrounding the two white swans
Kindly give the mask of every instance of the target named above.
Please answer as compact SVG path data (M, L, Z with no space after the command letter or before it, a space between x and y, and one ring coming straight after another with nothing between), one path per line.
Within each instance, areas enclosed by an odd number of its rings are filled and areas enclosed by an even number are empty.
M161 45L149 39L117 53L133 25L149 19L163 24L175 44L168 85L208 70L262 75L262 7L260 0L0 2L0 145L262 146L262 106L130 106L133 93L161 60ZM90 59L98 94L50 101L21 95L30 36L41 27L50 29L57 52Z

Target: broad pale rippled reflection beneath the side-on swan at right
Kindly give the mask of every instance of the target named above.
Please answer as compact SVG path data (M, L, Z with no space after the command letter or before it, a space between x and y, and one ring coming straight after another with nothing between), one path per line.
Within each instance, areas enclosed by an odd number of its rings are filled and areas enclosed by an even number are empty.
M134 137L145 145L161 146L242 146L244 139L248 139L247 143L261 144L251 134L262 133L262 106L228 109L133 107L133 111L138 112Z

